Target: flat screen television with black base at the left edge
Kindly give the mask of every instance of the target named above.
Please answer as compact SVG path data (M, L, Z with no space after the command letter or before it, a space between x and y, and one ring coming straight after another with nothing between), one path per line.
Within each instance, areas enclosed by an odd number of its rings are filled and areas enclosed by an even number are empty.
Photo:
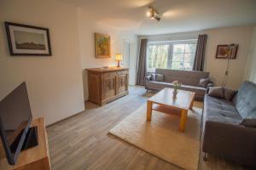
M20 150L38 144L37 127L30 127L32 112L26 82L0 101L0 136L10 165L15 165Z

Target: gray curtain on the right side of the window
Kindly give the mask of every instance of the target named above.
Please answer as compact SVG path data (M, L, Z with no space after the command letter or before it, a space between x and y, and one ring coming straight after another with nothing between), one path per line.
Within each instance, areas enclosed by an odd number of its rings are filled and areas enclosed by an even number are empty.
M203 71L205 61L205 51L207 45L207 34L199 35L195 49L195 59L193 71Z

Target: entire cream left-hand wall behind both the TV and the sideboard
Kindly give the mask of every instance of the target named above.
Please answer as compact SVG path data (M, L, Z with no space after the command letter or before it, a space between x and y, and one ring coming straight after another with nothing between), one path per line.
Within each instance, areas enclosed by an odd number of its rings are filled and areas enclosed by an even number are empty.
M137 36L102 26L93 14L70 3L58 1L0 0L0 99L26 81L34 117L44 116L46 124L60 121L84 111L88 98L84 69L116 65L114 54L124 54L124 40L134 42ZM51 57L11 57L4 21L49 28ZM94 33L111 36L111 59L95 58ZM132 52L130 84L135 84L137 50ZM84 80L83 80L84 77ZM84 82L84 87L83 87Z

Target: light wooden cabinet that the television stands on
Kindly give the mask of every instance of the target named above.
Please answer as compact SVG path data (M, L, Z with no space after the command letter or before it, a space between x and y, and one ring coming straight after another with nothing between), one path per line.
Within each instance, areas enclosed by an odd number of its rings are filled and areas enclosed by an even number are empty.
M1 170L50 170L48 139L44 117L32 120L31 127L38 127L38 145L20 152L14 166L8 164L0 140Z

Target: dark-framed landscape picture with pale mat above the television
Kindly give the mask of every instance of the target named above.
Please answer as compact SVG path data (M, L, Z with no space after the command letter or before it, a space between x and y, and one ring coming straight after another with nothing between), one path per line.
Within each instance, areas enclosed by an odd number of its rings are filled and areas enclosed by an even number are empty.
M11 55L51 55L49 29L5 22Z

